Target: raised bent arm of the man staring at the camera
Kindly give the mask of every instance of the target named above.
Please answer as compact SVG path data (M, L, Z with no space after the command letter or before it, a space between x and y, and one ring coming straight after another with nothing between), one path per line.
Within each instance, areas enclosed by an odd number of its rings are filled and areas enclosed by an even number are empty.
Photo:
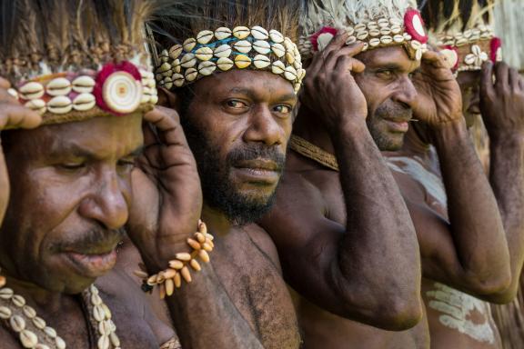
M408 210L366 125L367 106L350 70L360 45L338 35L308 68L304 102L322 115L335 147L347 224L302 175L285 175L262 225L275 239L288 282L328 311L389 330L418 323L418 244ZM318 110L322 108L322 110Z

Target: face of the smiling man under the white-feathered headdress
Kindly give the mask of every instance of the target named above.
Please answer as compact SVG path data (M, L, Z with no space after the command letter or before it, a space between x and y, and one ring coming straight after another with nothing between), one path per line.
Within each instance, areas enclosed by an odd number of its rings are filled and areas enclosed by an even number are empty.
M380 150L398 150L408 132L411 105L417 91L410 75L419 62L409 59L400 46L384 47L357 55L366 70L355 75L368 102L368 129Z

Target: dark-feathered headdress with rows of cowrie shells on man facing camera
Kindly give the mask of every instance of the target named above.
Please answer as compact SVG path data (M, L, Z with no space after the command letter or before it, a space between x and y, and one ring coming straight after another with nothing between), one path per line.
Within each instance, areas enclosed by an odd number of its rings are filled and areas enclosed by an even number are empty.
M185 18L164 15L151 24L160 49L156 81L166 88L229 69L267 70L297 90L305 70L297 45L302 0L204 0L177 6Z

